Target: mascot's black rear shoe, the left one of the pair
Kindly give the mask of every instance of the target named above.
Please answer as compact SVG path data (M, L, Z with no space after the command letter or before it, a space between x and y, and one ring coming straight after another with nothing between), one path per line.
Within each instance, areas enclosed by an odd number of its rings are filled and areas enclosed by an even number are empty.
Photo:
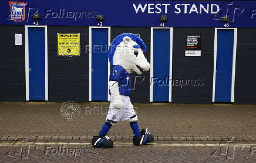
M113 148L113 141L108 136L93 136L92 145L97 148Z

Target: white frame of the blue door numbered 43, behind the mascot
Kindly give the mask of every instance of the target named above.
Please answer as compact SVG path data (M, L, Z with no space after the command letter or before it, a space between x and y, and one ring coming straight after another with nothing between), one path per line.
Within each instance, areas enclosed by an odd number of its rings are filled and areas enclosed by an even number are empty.
M107 28L108 29L108 47L110 46L110 26L89 26L89 101L92 101L92 29L93 28ZM109 81L109 74L110 74L110 63L108 62L108 74L107 74L107 81ZM107 100L110 100L109 95L109 85L107 84Z

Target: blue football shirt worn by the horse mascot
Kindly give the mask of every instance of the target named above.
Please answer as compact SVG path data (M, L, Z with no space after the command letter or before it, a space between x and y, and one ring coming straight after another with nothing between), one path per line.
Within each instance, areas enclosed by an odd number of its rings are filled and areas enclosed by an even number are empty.
M131 93L131 79L127 71L120 65L114 65L110 72L109 81L119 82L119 94L129 96ZM110 91L109 91L110 93Z

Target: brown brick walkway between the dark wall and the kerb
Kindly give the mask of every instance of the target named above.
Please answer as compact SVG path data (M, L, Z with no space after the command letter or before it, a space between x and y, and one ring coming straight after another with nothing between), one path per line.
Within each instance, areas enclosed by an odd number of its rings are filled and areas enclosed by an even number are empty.
M107 107L108 103L0 103L0 140L91 140L105 122ZM149 127L158 141L220 141L232 137L256 141L255 105L135 103L134 107L140 129ZM126 141L132 140L133 133L128 122L119 122L109 136Z

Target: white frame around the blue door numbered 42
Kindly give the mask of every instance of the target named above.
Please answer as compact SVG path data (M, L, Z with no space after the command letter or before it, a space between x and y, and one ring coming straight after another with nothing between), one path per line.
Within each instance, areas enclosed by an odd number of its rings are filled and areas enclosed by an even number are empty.
M29 100L29 44L28 28L44 27L45 28L45 100L48 100L48 34L47 26L25 25L25 82L26 82L26 100Z

